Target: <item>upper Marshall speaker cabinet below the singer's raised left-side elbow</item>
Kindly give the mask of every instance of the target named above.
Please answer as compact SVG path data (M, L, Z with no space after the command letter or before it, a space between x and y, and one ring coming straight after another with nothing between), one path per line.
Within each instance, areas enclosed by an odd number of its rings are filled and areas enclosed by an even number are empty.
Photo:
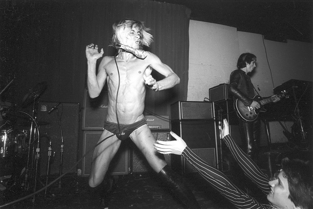
M91 99L88 89L85 89L82 130L103 130L104 121L108 115L108 92L102 91Z

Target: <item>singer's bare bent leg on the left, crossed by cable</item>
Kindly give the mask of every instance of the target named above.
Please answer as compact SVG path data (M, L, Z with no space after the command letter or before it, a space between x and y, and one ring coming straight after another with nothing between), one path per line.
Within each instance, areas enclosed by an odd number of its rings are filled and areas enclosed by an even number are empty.
M110 135L112 135L112 133L104 130L98 143ZM120 145L121 140L118 140L116 136L112 136L95 147L89 175L89 186L96 187L104 180L110 162L118 151Z

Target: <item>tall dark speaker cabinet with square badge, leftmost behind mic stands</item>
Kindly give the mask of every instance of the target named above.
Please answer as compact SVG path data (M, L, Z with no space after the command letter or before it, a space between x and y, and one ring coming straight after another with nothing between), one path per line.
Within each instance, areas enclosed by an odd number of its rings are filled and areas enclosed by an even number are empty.
M50 160L49 174L59 174L60 171L62 137L57 113L59 113L63 134L62 173L67 172L77 163L80 104L61 102L58 111L54 110L49 114L48 111L57 104L58 102L44 101L38 104L39 133L47 133L51 140L52 156L55 152L54 157L51 158L53 161ZM43 176L47 175L48 149L49 140L47 137L40 139L40 174ZM77 166L70 171L70 173L76 172Z

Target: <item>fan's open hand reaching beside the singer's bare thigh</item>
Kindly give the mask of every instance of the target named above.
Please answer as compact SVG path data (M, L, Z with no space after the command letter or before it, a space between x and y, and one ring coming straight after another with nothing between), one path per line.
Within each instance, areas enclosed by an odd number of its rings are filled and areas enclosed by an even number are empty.
M161 154L175 154L181 155L182 151L186 148L186 142L181 137L177 136L174 132L170 132L176 139L174 141L159 141L157 140L154 145L154 149Z

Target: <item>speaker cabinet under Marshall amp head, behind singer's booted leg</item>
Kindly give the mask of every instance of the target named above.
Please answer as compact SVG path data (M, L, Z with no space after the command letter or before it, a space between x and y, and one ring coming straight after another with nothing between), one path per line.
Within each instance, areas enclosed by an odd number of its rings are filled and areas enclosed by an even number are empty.
M169 132L152 132L154 138L160 141L169 141L171 139L171 135ZM165 161L167 165L171 166L171 154L164 155ZM146 158L143 156L141 151L136 147L136 145L132 145L132 158L131 158L132 166L131 172L132 173L147 173L152 171L151 166L149 165Z

